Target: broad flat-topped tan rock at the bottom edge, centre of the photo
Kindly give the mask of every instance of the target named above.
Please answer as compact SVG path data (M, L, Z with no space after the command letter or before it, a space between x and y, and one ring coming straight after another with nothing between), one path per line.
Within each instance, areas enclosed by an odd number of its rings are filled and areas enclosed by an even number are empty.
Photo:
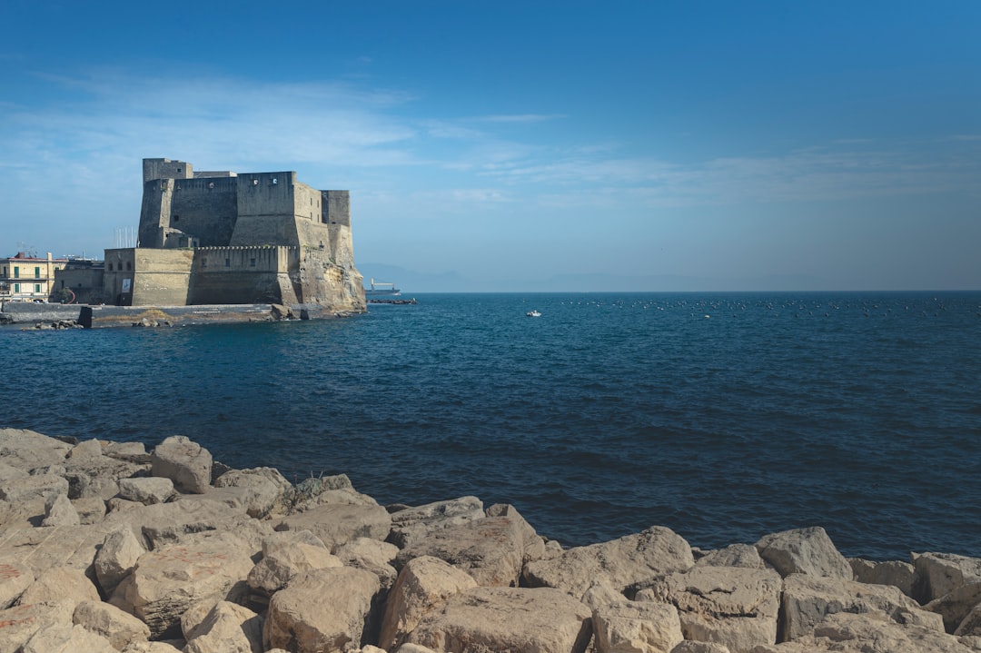
M583 603L551 587L474 587L447 597L409 633L438 653L583 653L592 636Z

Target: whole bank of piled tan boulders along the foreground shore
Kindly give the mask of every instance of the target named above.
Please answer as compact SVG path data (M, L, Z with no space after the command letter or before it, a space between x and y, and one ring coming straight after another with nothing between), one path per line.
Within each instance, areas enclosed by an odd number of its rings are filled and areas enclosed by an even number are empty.
M473 496L0 429L0 653L58 651L966 653L981 560L847 560L821 527L562 549Z

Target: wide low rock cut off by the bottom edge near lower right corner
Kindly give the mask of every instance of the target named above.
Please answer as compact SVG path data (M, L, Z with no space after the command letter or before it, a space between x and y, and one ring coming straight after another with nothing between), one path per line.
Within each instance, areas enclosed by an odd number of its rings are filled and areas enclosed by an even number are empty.
M814 633L752 653L974 653L954 635L932 628L897 624L880 615L828 615Z

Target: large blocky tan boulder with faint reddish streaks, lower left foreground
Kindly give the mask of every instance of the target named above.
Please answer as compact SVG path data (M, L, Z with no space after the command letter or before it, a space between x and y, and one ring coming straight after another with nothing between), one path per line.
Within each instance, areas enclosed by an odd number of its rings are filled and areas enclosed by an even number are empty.
M140 556L111 602L143 620L155 638L176 634L181 614L196 601L244 597L249 556L248 545L229 532L164 546Z

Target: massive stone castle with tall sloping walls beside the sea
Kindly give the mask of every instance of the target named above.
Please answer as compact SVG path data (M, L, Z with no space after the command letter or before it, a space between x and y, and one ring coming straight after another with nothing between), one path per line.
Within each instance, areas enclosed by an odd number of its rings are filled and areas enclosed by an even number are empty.
M354 267L350 193L294 172L194 172L143 160L136 247L60 271L55 292L120 306L284 304L365 309ZM66 293L67 294L67 293Z

